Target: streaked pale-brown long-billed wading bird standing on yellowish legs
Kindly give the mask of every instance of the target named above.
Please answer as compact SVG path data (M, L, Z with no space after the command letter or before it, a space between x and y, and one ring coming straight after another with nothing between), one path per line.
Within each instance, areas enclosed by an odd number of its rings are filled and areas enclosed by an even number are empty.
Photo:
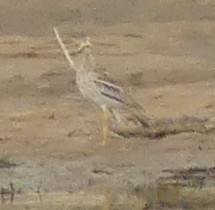
M92 53L92 42L89 37L76 39L76 61L71 58L69 50L63 43L62 38L56 28L54 28L56 39L66 57L69 65L76 71L76 84L84 96L102 110L102 145L105 145L108 138L108 122L111 115L118 123L122 120L122 115L118 110L129 108L132 110L132 119L147 127L148 119L140 114L142 107L128 99L128 95L106 72L96 71L96 62Z

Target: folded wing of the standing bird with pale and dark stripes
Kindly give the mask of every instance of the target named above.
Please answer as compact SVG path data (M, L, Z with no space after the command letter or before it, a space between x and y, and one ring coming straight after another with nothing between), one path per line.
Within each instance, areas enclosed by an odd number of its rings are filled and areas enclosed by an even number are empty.
M97 74L94 83L99 87L102 95L112 99L118 103L125 104L125 97L123 89L111 79L107 73Z

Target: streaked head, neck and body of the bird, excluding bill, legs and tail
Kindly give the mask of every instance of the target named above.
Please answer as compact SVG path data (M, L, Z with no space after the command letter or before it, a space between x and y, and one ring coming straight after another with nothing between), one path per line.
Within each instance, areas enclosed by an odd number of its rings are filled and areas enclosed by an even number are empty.
M125 103L123 89L114 84L107 74L95 71L96 65L89 39L80 41L77 57L76 82L85 98L106 109Z

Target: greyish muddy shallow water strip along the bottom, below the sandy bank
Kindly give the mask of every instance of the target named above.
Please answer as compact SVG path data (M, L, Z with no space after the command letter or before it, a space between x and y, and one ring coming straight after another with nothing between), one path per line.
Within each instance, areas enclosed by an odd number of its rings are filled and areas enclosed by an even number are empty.
M139 169L135 165L96 167L86 162L78 166L64 162L56 168L51 163L5 159L1 161L1 209L212 209L215 206L214 168L165 170L154 181L150 177L151 182ZM134 173L137 177L142 173L142 180L132 180L136 186L128 181L120 184L119 174L121 179L129 180ZM105 176L109 176L109 181ZM118 185L114 186L115 179Z

